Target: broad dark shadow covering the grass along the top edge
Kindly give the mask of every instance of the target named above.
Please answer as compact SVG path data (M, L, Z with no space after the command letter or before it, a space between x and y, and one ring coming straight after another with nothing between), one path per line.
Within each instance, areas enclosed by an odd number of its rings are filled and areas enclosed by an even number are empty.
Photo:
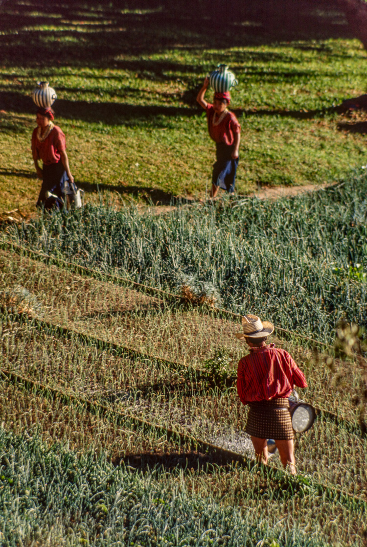
M81 0L5 2L0 18L2 58L9 66L49 68L62 63L106 68L124 55L169 49L220 49L225 55L235 46L352 37L343 14L328 0L288 2L292 9L284 9L284 0L269 1L266 7L255 0L126 2L130 11L121 10L121 5L103 0L90 0L88 7ZM146 9L139 11L142 6ZM125 62L115 66L124 68Z

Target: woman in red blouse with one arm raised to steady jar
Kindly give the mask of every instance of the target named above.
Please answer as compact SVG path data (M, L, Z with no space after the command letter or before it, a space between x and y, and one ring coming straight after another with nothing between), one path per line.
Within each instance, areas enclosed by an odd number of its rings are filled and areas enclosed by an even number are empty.
M215 197L218 189L223 188L229 194L235 191L235 178L240 148L241 125L233 112L228 110L231 97L229 92L215 93L213 104L206 102L205 93L209 78L206 77L196 101L205 108L209 136L216 146L217 161L213 166L212 189L210 196Z

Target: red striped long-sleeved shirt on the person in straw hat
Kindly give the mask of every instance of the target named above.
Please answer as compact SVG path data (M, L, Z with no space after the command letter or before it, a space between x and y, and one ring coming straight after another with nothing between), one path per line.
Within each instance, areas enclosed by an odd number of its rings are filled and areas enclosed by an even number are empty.
M237 368L237 393L244 405L289 397L293 386L307 387L304 373L274 344L252 347Z

